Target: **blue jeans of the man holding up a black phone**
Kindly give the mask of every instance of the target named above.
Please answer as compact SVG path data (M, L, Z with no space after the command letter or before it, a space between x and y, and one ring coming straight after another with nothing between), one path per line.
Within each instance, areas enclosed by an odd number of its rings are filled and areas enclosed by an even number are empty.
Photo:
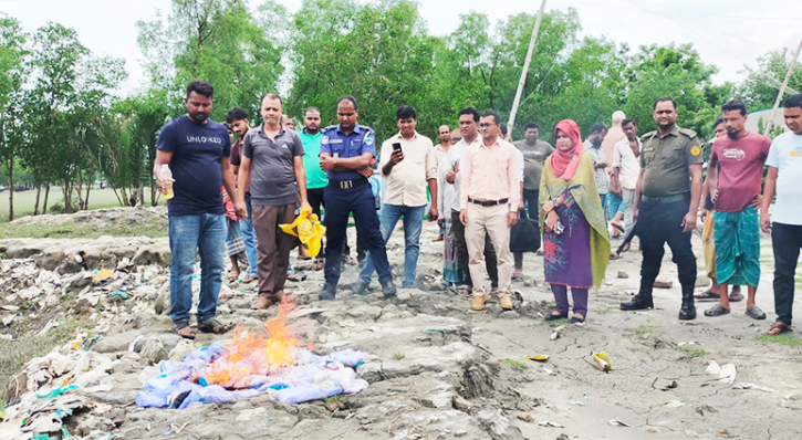
M418 253L420 252L420 230L424 226L425 210L426 206L406 207L400 205L385 205L382 207L381 230L385 244L389 241L389 235L393 234L393 229L395 229L395 224L398 222L398 219L404 216L405 249L403 287L413 287L415 285ZM362 268L362 272L360 273L360 280L365 283L369 283L374 270L373 259L371 258L371 252L368 252L365 258L365 265Z

